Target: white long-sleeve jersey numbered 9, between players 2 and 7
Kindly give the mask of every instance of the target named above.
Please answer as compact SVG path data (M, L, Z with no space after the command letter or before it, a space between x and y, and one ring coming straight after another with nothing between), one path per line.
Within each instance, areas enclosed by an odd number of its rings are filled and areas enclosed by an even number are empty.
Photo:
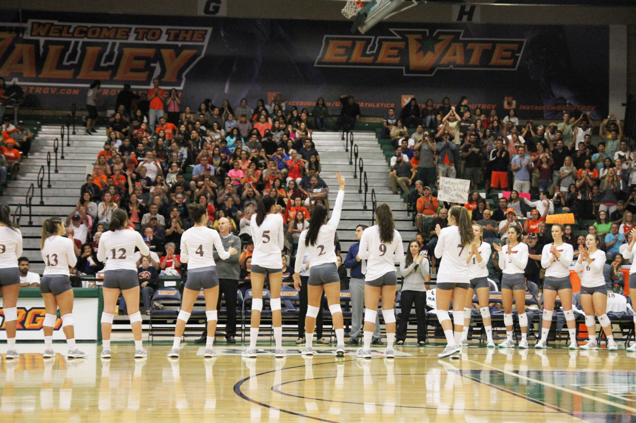
M404 258L402 237L393 230L393 240L387 244L380 241L378 225L366 228L360 238L358 256L366 260L364 280L376 280L390 271L396 271L396 263Z

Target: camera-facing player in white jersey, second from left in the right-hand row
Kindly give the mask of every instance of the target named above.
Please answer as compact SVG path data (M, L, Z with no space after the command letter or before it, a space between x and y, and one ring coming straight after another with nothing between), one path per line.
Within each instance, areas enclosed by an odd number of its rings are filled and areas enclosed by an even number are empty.
M528 245L521 242L521 228L508 228L508 245L494 244L499 252L499 268L501 275L501 305L504 308L504 325L506 325L506 341L499 348L515 348L513 342L513 299L517 305L521 341L519 348L528 348L528 315L525 314L525 266L528 264ZM520 304L523 304L520 306Z

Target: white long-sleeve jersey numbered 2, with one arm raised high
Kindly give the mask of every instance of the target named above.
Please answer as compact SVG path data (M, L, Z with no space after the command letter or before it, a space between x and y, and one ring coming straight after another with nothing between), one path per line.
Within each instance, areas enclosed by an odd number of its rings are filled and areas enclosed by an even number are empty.
M298 239L298 251L296 257L304 257L305 249L309 251L311 257L309 267L318 266L319 264L336 263L336 250L334 247L334 237L336 230L338 229L338 223L340 223L340 214L342 212L342 202L345 198L344 191L338 191L338 197L336 197L336 205L331 212L331 219L327 223L321 226L318 230L318 237L314 245L305 245L305 239L307 239L307 230L300 233ZM300 273L301 261L296 260L294 265L294 271Z

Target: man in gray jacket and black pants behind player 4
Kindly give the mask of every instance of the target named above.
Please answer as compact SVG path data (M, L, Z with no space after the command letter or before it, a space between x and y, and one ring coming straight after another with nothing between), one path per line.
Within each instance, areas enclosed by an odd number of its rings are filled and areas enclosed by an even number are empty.
M223 248L234 247L240 251L240 238L230 233L230 221L226 218L219 219L219 235ZM227 311L227 321L225 324L225 339L228 344L235 344L234 336L237 333L237 290L239 290L239 254L234 254L228 259L221 259L219 253L214 249L212 252L216 263L216 273L219 275L219 302L217 309L221 308L221 295L225 294L225 309Z

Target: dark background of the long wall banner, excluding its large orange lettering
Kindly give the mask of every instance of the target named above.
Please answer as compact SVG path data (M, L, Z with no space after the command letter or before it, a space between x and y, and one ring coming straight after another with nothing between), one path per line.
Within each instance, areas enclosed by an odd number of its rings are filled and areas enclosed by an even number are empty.
M471 105L496 107L500 115L505 113L504 98L510 98L516 102L521 120L542 117L556 119L562 110L572 109L590 110L595 119L607 115L609 29L602 25L406 25L382 22L365 34L366 38L361 37L371 45L374 42L379 44L384 39L382 37L396 38L391 29L398 32L408 32L404 31L406 29L415 32L427 30L428 34L434 34L436 30L461 30L461 36L453 42L462 44L460 48L466 51L466 62L471 56L470 50L466 49L467 43L471 42L468 39L494 40L493 43L515 40L523 45L522 55L518 60L515 59L516 68L511 70L488 68L488 63L485 63L480 70L455 66L450 69L438 68L434 74L427 76L404 75L409 73L408 46L398 53L401 65L405 64L406 68L392 68L375 62L366 67L347 67L350 63L342 63L338 67L316 66L322 63L319 58L324 57L322 50L325 39L350 39L350 22L165 16L141 18L28 12L23 12L23 17L31 20L26 25L27 35L35 20L57 20L60 24L156 25L163 28L164 32L167 27L183 30L197 27L209 31L209 40L206 42L183 41L181 44L162 39L128 39L118 44L118 41L108 39L71 41L60 37L29 39L26 36L15 36L7 42L7 34L11 33L5 32L4 36L0 33L0 76L8 84L15 81L23 86L27 91L25 106L29 107L69 108L74 102L78 108L83 108L91 81L78 79L78 74L85 64L86 48L93 46L101 48L93 70L111 70L110 77L102 79L102 98L108 107L113 107L114 96L124 82L130 83L134 91L141 91L151 86L153 75L162 79L165 75L162 60L170 57L165 51L172 51L170 54L174 57L191 50L193 53L189 61L180 68L174 80L162 81L161 84L163 88L174 86L179 89L182 93L182 110L185 105L197 108L198 103L205 98L210 98L215 104L227 98L232 105L237 105L240 98L245 97L249 105L254 107L257 99L267 101L268 94L271 96L272 93L280 92L290 104L310 109L315 99L322 96L331 104L332 113L338 111L340 94L350 93L361 103L365 115L382 115L389 105L395 105L399 112L403 96L415 96L419 103L424 103L427 98L440 103L443 97L448 96L455 103L462 95L469 96ZM433 39L433 44L428 46L431 51L434 51L432 47L437 41ZM25 48L25 44L32 47ZM60 48L59 61L53 65L59 69L73 69L72 78L41 77L50 44L64 46ZM20 60L23 59L14 57L14 61L17 60L15 66L4 66L18 45L22 50L30 51L29 54L34 57L34 63L31 63L34 69L30 77L25 76L25 68L21 67L24 63ZM114 79L115 75L122 75L118 69L123 66L124 48L145 49L143 54L146 58L128 58L127 66L132 66L134 80ZM373 56L372 53L368 54ZM76 63L71 63L73 61L69 58L76 58ZM130 60L141 62L131 65ZM16 72L16 69L22 72ZM144 71L147 71L147 75L139 77L139 72Z

